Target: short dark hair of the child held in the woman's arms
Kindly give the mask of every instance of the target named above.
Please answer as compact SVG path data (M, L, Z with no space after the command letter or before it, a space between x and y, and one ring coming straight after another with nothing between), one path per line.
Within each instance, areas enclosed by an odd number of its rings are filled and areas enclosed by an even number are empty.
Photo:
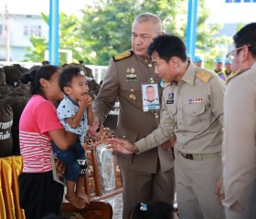
M81 73L82 72L82 73ZM71 86L72 78L84 75L80 67L69 64L62 68L62 74L59 76L59 89L64 92L65 87Z

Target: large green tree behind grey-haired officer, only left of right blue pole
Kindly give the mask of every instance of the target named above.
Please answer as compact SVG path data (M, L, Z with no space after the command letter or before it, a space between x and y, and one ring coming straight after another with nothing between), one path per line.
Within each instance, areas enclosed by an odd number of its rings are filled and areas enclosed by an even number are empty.
M172 21L186 14L185 6L186 1L177 0L99 0L97 5L84 8L80 36L91 43L94 64L107 65L110 57L131 47L133 19L143 12L160 16L165 32L184 36L186 21L181 19L178 25ZM86 63L91 60L85 57Z

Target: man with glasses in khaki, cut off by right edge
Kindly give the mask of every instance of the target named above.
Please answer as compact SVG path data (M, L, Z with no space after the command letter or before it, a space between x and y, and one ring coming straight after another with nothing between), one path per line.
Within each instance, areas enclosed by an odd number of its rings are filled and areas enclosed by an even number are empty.
M224 101L223 181L227 219L256 218L256 23L233 36Z

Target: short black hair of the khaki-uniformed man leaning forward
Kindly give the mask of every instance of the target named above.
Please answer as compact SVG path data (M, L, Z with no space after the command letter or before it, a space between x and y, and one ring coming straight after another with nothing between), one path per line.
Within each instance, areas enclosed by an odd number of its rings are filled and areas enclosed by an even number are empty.
M171 57L179 57L182 61L187 61L186 46L178 36L162 35L155 37L147 49L147 54L151 57L154 51L166 62Z

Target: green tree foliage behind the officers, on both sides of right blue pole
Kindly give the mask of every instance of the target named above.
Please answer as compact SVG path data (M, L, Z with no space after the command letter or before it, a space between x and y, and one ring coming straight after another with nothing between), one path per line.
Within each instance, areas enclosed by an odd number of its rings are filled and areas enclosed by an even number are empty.
M99 0L97 5L88 5L83 10L81 35L91 42L91 51L96 53L93 63L107 65L112 55L131 47L131 26L134 16L151 12L163 20L165 33L186 39L187 1L184 0ZM199 0L197 9L197 50L203 54L206 67L213 68L215 57L223 57L231 39L216 36L220 25L209 25L209 10L205 0ZM81 37L80 37L81 38ZM217 47L218 46L218 47ZM94 53L94 54L95 54ZM90 56L86 63L91 63ZM91 64L93 64L91 63Z

